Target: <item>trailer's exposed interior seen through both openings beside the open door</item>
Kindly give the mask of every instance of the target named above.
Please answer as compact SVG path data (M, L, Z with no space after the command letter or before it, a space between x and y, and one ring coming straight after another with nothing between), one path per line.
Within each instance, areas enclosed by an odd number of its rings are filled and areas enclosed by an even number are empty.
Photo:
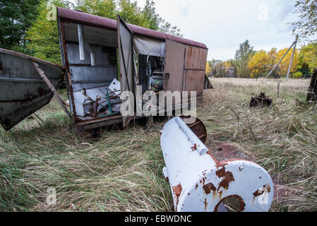
M136 37L135 42L147 41ZM142 93L163 90L165 42L157 43L160 47L158 54L145 53L144 49L138 51L142 54L133 53L136 85L142 85ZM66 23L63 44L67 56L64 59L70 72L68 97L71 113L83 121L120 115L121 78L117 32Z

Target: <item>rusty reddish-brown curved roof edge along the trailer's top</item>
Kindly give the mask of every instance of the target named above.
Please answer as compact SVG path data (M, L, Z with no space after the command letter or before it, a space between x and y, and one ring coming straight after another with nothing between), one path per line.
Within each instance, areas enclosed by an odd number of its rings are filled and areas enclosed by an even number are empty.
M116 30L116 20L109 18L104 18L101 16L95 16L89 13L83 13L80 11L73 11L68 8L57 8L58 17L64 20L71 20L75 23L83 23L86 25L94 25L97 27L108 28ZM174 35L165 34L163 32L158 32L156 30L150 30L148 28L143 28L137 25L127 24L132 32L138 35L145 35L148 37L154 37L160 40L172 40L175 42L181 42L183 44L189 44L194 47L199 47L203 49L208 49L207 46L201 42L195 42L193 40L187 40L183 37L177 37Z

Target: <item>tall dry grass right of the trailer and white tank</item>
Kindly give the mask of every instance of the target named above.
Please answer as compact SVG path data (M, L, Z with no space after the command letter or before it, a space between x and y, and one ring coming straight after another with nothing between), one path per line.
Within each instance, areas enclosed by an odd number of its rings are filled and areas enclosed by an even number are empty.
M262 165L275 182L273 211L317 210L317 110L305 103L309 80L211 79L201 117L208 145L236 145ZM271 107L250 108L265 92ZM237 115L236 115L237 114ZM239 119L238 119L239 118Z

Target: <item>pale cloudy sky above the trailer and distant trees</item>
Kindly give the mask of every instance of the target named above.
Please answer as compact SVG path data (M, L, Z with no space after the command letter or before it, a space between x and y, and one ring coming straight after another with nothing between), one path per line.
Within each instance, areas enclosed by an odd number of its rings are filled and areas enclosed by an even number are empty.
M146 0L138 0L143 8ZM157 13L181 29L185 38L203 42L208 60L233 59L239 44L255 50L288 48L295 37L287 23L298 20L296 0L154 0Z

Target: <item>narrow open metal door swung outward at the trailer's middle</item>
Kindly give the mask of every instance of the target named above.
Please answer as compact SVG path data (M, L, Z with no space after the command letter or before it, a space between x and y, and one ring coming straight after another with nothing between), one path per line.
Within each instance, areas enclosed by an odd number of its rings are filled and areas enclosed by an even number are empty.
M117 15L117 29L118 29L118 48L119 48L119 69L120 69L120 82L121 82L121 96L124 91L130 91L130 94L125 95L127 100L122 100L122 107L126 106L124 102L128 102L129 114L123 114L123 125L126 127L131 117L134 115L135 109L135 81L134 81L134 56L133 56L133 32L128 28L128 25L124 23L124 20ZM121 114L123 111L121 111Z

